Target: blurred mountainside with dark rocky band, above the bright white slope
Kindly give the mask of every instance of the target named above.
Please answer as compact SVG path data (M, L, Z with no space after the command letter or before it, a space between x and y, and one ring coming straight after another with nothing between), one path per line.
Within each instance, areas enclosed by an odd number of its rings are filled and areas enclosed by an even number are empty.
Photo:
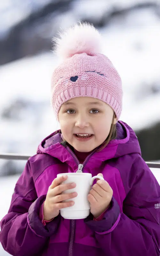
M77 20L104 27L129 12L152 8L160 16L156 0L8 0L0 4L0 65L52 50L51 38L60 27Z

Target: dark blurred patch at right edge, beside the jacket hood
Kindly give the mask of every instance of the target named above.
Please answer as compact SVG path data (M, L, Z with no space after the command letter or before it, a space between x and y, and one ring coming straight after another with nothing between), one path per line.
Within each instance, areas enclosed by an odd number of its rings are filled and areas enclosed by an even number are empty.
M136 131L135 131L136 132ZM160 160L160 122L136 132L145 161Z

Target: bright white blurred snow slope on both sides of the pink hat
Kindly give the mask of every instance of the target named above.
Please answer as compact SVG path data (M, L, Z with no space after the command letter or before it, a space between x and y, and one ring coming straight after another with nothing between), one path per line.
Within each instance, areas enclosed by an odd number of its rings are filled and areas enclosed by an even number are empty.
M44 1L38 3L43 5ZM73 1L74 19L82 17L84 6L87 15L89 3ZM118 6L119 1L108 3L106 8L113 7L113 4ZM94 4L91 14L96 8L98 12L104 7L102 0L99 7ZM132 5L133 2L122 1L123 7L127 8L128 4ZM64 28L65 22L72 23L71 16L71 12L66 12L66 19L61 19L63 22L57 24ZM60 21L59 15L57 20ZM147 7L132 10L120 17L113 17L100 32L103 36L103 53L110 58L122 77L124 98L120 119L135 131L156 124L160 119L160 19L157 14L153 8ZM0 66L0 152L33 155L40 141L60 128L50 106L51 76L58 63L55 56L47 52ZM0 160L1 173L6 172L2 168L6 162Z

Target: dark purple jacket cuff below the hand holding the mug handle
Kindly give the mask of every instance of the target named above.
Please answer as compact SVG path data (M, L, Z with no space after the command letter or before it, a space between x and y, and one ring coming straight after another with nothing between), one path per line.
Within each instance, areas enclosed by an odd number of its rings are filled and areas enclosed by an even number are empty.
M92 213L84 219L84 222L95 232L106 232L113 227L120 214L119 204L112 196L110 206L107 211L104 212L102 220L95 221Z

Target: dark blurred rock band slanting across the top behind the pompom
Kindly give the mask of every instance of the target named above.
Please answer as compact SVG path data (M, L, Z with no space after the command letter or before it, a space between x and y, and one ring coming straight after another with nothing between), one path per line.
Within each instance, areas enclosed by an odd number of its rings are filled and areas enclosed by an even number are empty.
M59 30L57 16L72 9L72 2L76 0L57 0L44 5L40 10L33 12L16 26L12 27L5 38L0 38L0 65L14 61L25 56L32 56L42 51L52 50L51 39ZM111 3L110 3L111 5ZM107 6L107 5L106 5ZM82 20L92 23L95 27L103 27L114 18L123 18L128 12L140 8L153 8L155 14L160 16L160 5L156 3L133 3L128 7L111 5L110 9L94 19L77 16L73 10L73 16L76 20ZM49 22L50 21L50 22ZM63 22L63 21L62 21Z

